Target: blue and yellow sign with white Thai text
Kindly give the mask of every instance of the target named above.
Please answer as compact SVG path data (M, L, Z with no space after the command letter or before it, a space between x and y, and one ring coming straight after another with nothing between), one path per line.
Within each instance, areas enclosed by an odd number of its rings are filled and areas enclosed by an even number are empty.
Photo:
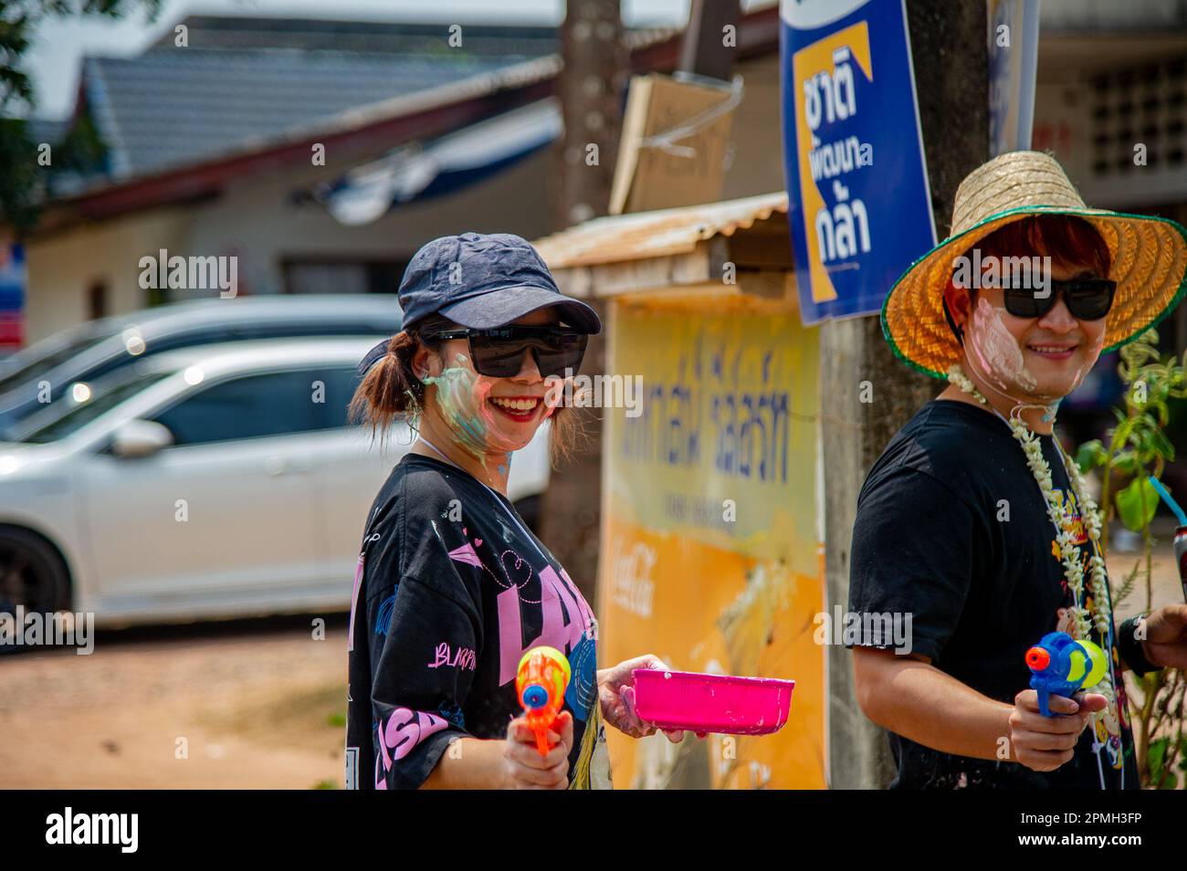
M782 0L800 317L872 314L935 246L903 0Z

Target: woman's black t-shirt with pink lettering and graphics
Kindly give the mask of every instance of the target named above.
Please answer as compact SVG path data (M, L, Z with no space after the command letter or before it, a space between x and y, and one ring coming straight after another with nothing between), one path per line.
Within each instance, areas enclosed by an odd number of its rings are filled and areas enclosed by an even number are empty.
M506 738L538 644L572 668L570 789L608 786L597 623L504 496L410 453L372 507L355 572L347 788L415 789L462 737Z

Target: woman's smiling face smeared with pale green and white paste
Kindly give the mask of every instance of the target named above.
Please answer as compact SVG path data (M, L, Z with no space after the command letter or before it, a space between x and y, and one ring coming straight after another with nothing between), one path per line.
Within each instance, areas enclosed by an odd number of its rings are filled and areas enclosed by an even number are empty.
M557 313L541 309L512 323L546 326L557 323ZM469 342L455 338L442 344L439 357L426 354L424 364L430 413L436 412L458 444L483 462L487 454L525 447L554 411L545 401L548 384L532 354L523 355L516 375L490 377L475 371Z

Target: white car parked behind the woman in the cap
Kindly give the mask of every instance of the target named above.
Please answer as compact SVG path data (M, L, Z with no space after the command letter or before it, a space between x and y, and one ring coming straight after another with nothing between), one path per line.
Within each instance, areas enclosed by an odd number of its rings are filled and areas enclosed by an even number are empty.
M349 608L367 510L411 441L347 424L380 338L195 347L74 384L0 444L0 612L122 625ZM548 471L541 427L508 496L538 500Z

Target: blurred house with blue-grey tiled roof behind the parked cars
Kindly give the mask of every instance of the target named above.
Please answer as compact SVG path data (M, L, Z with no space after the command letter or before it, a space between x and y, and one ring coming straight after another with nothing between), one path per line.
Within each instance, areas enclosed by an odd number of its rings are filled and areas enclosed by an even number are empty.
M437 236L556 229L558 28L464 25L451 47L444 23L179 24L188 47L170 28L137 57L85 58L71 117L34 127L102 158L51 174L26 240L26 342L164 301L137 281L159 249L236 255L240 293L394 292ZM726 197L782 186L776 25L774 7L740 25L747 95ZM628 31L633 70L673 69L679 33Z

